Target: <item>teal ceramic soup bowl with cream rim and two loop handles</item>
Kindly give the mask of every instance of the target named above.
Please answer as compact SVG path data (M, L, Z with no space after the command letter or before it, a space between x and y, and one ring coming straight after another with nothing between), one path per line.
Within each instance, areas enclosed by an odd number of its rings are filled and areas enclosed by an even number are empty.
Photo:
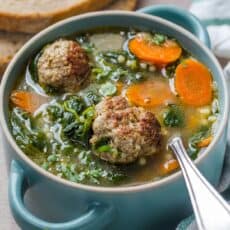
M181 172L136 186L83 185L45 171L15 143L9 127L8 104L22 67L45 44L98 27L134 27L167 34L210 68L219 89L220 119L212 143L195 163L212 184L217 185L220 178L229 101L222 69L209 50L209 38L199 20L172 6L152 6L141 12L108 11L72 17L33 37L14 57L1 83L0 121L9 166L9 203L22 229L172 229L191 213Z

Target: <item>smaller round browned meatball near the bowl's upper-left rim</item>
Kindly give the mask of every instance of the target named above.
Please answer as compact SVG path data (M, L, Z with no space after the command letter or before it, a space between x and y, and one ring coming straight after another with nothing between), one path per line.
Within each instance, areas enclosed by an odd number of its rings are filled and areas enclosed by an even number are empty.
M87 80L89 58L81 46L59 39L44 48L38 59L38 81L63 92L78 91Z

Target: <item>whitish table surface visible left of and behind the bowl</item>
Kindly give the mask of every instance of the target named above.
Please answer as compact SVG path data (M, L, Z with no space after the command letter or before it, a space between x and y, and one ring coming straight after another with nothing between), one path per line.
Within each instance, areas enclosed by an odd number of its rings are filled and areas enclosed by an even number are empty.
M151 4L177 4L187 8L190 0L139 0L138 7L143 7ZM4 159L4 146L2 143L2 132L0 129L0 230L19 230L15 223L8 205L7 186L8 177Z

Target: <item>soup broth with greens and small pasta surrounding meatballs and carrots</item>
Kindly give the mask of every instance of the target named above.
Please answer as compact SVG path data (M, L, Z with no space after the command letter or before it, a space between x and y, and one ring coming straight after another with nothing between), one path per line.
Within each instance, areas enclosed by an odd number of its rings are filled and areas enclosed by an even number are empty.
M159 65L143 61L128 47L129 41L138 33L140 32L133 29L108 28L68 37L67 39L77 41L87 52L91 69L87 83L74 93L60 92L55 87L38 83L38 59L44 54L45 48L36 57L31 58L15 90L42 95L46 98L45 102L33 114L15 103L10 104L12 134L31 160L47 171L74 182L126 186L158 180L178 170L174 155L167 149L167 140L174 135L183 137L192 159L201 154L206 145L200 143L214 135L214 124L218 119L218 93L215 82L212 79L210 103L201 106L184 103L175 93L175 69L184 60L194 57L179 45L182 49L180 57L169 64ZM154 38L155 35L151 36ZM164 41L161 41L162 39ZM164 44L165 39L171 38L158 35L157 42ZM137 89L140 89L139 85L145 82L168 87L170 91L169 100L160 105L140 106L136 102L129 102L132 106L143 107L145 111L155 115L161 125L162 147L156 154L140 156L129 164L113 164L99 159L92 153L89 142L93 135L92 123L95 119L95 116L90 118L90 112L94 113L95 105L106 96L122 96L129 100L127 95L129 90L131 94L130 87L137 86ZM144 91L147 91L149 86L143 87ZM160 89L157 93L161 97ZM166 91L162 94L166 94ZM75 96L81 98L79 104ZM68 127L68 122L72 122L71 116L77 110L71 112L70 107L67 109L67 103L73 103L71 106L80 106L82 103L84 110L81 109L79 116L85 123L90 124L87 134L77 133L77 128L73 134L71 127ZM84 112L86 115L82 115Z

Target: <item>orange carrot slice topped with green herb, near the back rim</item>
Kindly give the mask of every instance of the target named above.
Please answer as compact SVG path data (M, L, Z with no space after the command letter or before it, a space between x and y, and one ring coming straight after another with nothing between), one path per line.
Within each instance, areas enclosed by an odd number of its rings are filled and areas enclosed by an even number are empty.
M129 42L129 49L138 58L157 65L174 62L182 53L176 41L167 39L163 44L156 45L138 36Z

